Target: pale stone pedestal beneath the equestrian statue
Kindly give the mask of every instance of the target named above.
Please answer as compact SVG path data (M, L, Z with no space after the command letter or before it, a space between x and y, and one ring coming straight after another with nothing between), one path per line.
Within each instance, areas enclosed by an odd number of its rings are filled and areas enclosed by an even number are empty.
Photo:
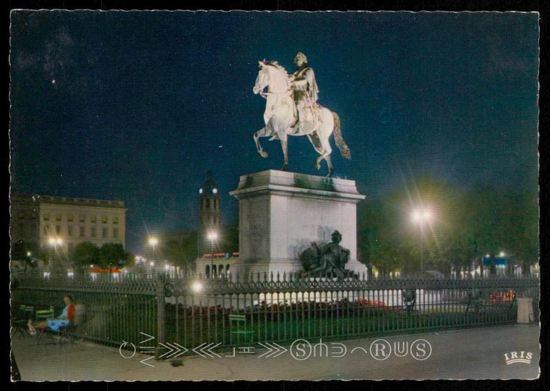
M243 175L230 192L239 200L239 260L232 273L300 271L298 255L312 241L329 243L334 230L351 250L347 269L362 273L357 260L355 181L267 170Z

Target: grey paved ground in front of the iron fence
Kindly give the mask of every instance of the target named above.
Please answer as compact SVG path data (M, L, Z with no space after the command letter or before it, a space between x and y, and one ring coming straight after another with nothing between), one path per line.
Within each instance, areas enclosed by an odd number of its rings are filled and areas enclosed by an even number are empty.
M147 355L137 353L125 359L118 348L87 342L37 345L31 337L14 337L12 352L23 381L536 379L539 374L538 325L469 328L384 338L390 346L395 346L395 342L404 346L406 342L412 344L417 339L425 339L432 353L423 361L410 354L397 357L395 353L383 361L376 360L369 353L375 339L345 341L343 357L336 357L337 353L341 355L341 349L331 342L326 342L328 353L317 350L303 360L293 358L289 351L267 357L265 353L269 350L260 350L256 345L253 354L236 350L235 357L224 357L233 355L231 352L219 353L221 358L187 356L182 366L172 366L170 360L147 360L146 363L154 368L140 363ZM316 343L311 342L311 345ZM532 353L530 364L506 364L505 353L511 357L509 353L520 355L521 351L524 355ZM299 349L294 350L295 357L299 353Z

